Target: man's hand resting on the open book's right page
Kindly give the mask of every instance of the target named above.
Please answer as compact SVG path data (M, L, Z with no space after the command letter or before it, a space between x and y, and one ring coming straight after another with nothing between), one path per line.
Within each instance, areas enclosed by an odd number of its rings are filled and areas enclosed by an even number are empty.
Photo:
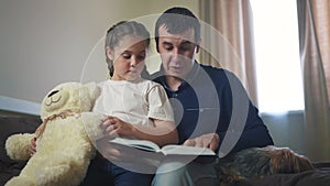
M184 145L186 146L199 146L199 147L209 147L212 151L216 151L219 146L219 135L217 133L208 133L200 135L195 139L186 140Z

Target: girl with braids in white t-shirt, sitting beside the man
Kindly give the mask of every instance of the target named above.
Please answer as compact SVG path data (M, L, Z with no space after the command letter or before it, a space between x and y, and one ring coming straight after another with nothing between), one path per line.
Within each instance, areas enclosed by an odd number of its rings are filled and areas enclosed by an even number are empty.
M119 22L107 32L106 57L111 78L99 84L101 95L94 107L95 112L109 116L101 123L107 139L120 135L153 141L160 146L178 141L165 90L141 78L148 44L150 33L135 21ZM107 164L116 186L151 185L151 174L128 171L111 160Z

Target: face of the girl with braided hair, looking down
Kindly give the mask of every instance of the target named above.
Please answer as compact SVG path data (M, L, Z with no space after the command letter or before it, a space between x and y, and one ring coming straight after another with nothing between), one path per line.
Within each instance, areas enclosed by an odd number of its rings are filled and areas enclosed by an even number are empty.
M113 51L107 46L107 55L113 62L112 80L135 80L144 67L147 44L136 35L121 37Z

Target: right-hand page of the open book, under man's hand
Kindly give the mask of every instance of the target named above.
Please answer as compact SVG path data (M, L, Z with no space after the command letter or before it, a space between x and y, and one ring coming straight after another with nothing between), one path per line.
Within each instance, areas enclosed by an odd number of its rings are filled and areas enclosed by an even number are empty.
M161 150L165 155L216 155L208 147L184 146L184 145L166 145Z

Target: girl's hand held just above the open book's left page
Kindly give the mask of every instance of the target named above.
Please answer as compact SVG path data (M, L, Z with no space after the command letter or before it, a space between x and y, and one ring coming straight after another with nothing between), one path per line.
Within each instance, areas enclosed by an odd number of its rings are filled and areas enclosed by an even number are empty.
M101 123L101 128L103 129L103 133L109 138L134 135L136 130L132 124L124 122L117 117L108 117Z

